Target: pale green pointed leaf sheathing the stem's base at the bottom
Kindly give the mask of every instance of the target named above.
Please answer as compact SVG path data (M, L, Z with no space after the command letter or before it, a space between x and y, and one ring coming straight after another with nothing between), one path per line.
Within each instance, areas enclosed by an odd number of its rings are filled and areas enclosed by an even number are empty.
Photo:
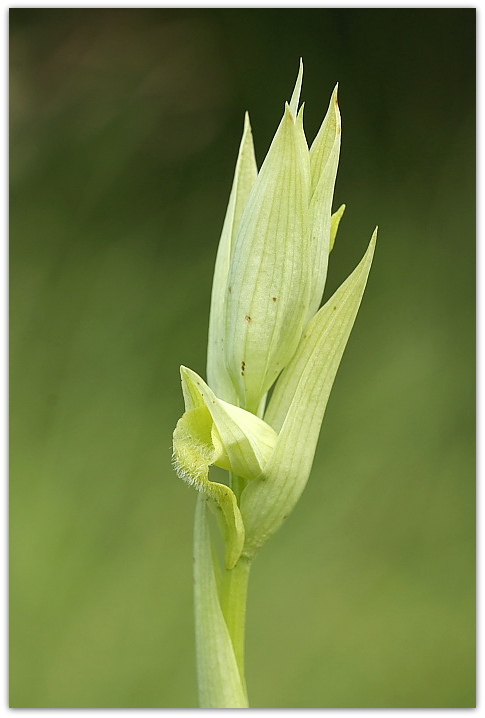
M246 691L219 601L202 495L195 514L194 605L200 707L247 708Z

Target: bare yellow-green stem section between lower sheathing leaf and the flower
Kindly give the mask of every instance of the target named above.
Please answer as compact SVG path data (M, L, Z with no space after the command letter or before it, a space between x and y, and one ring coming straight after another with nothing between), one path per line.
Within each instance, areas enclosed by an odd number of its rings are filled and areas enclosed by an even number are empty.
M244 690L246 690L244 671L246 601L250 569L250 559L241 556L234 568L225 570L221 587L222 612L231 637Z

